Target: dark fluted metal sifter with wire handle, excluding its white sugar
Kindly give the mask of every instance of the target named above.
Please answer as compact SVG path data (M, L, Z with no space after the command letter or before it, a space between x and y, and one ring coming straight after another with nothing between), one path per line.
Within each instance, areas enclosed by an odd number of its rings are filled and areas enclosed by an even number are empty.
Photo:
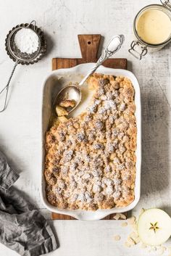
M31 54L28 54L26 52L20 51L20 49L17 48L16 44L14 43L14 37L16 36L17 32L21 30L22 28L27 28L30 30L33 30L34 33L38 36L38 48L36 51L34 51ZM30 65L38 62L43 57L43 54L46 52L46 38L44 36L43 31L41 28L38 28L36 26L36 21L33 20L30 23L20 24L16 27L12 28L12 30L9 31L7 38L5 40L5 47L7 54L9 57L15 62L14 67L12 69L12 73L9 77L9 80L7 82L7 85L0 91L0 95L6 90L5 98L4 98L4 105L0 112L3 112L7 108L7 97L8 97L8 91L9 91L9 83L12 79L12 75L14 74L14 70L17 67L18 64L21 65Z

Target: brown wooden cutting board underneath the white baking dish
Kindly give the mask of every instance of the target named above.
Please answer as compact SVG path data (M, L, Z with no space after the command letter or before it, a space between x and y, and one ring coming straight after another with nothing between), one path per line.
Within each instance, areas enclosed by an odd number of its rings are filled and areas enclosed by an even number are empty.
M75 67L86 62L96 62L98 59L99 44L101 35L78 35L80 51L82 58L54 58L52 59L52 70L59 68ZM105 67L127 69L127 59L107 59L103 65ZM126 213L124 213L126 216ZM105 220L114 220L115 214L109 215ZM62 215L55 212L51 213L52 220L75 220L68 215Z

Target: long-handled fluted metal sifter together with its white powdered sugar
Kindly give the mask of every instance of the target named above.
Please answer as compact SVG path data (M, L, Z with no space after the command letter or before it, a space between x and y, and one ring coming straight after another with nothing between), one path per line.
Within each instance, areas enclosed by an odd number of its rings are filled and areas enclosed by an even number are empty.
M4 107L2 107L0 112L3 112L7 108L9 83L17 65L30 65L38 62L38 60L43 57L43 54L45 54L47 45L43 31L36 26L36 21L33 20L30 23L20 24L12 28L5 40L5 46L7 54L15 64L7 82L7 86L0 91L1 95L6 90ZM35 50L34 47L36 47Z

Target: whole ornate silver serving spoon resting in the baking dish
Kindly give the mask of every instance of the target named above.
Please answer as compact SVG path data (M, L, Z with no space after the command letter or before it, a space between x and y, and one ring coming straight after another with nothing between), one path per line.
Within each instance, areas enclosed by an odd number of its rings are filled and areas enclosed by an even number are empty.
M62 102L65 99L74 99L76 102L74 107L67 108L68 114L70 112L72 112L73 110L75 110L76 107L78 107L78 104L80 104L80 101L81 101L80 86L83 86L83 83L85 83L87 78L96 71L97 67L99 67L106 59L109 59L109 57L111 57L113 54L115 54L120 49L120 47L123 44L124 38L125 37L123 35L114 36L111 39L111 41L109 41L107 48L104 49L104 52L103 52L103 54L101 54L101 57L96 62L96 65L94 65L91 68L91 70L87 73L85 78L83 78L83 80L80 81L78 86L71 84L69 86L65 86L64 88L62 88L62 90L59 91L56 99L54 100L54 104L53 104L53 110L55 112L55 115L57 115L56 110L55 110L57 104L59 104L60 102Z

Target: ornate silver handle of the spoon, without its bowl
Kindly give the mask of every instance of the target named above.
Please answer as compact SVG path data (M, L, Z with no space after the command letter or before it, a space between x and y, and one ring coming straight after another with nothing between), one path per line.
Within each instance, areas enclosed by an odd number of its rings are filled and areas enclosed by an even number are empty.
M118 40L119 39L119 40ZM120 47L122 46L124 41L124 36L114 36L111 41L109 41L109 44L107 45L107 48L104 49L103 54L101 54L101 57L99 57L96 64L91 68L90 71L88 71L87 75L83 80L80 81L79 86L83 86L83 83L86 82L87 78L92 75L96 69L106 60L109 59L113 54L115 54Z

